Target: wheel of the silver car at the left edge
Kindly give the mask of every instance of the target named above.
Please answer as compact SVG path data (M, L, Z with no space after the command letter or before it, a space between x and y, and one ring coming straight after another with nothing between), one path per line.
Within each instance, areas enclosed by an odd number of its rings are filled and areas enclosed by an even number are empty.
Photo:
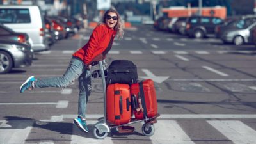
M0 51L0 74L9 72L13 67L13 60L10 54Z

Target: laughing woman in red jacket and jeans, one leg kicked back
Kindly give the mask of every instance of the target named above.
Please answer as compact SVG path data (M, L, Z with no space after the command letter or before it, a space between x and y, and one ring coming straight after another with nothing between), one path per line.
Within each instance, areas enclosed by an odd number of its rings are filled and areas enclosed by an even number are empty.
M105 58L106 53L111 49L116 34L118 38L122 38L124 34L124 31L122 30L122 22L118 12L110 9L104 13L102 22L93 30L87 44L73 54L70 65L63 76L47 79L35 79L34 76L31 76L20 86L20 93L33 88L64 88L78 78L78 116L74 119L74 123L82 131L89 132L88 127L86 126L85 114L86 104L91 92L90 68L92 67L93 59L95 57L103 54Z

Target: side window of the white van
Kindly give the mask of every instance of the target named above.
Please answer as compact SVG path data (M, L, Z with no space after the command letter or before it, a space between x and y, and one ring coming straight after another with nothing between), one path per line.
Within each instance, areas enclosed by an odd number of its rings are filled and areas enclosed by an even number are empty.
M0 22L2 23L30 23L30 15L28 9L0 9Z

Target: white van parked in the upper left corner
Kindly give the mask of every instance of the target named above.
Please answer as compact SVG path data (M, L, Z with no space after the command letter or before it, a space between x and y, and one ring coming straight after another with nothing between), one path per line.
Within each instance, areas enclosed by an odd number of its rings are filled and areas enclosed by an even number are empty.
M45 24L38 6L1 5L0 23L13 31L28 33L34 51L49 49L45 36Z

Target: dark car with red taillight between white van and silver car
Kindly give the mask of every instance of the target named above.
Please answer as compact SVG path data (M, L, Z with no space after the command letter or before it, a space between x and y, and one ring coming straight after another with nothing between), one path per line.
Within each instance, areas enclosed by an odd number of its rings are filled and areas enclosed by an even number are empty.
M17 42L30 45L27 33L17 33L3 24L0 24L0 39L16 40Z

